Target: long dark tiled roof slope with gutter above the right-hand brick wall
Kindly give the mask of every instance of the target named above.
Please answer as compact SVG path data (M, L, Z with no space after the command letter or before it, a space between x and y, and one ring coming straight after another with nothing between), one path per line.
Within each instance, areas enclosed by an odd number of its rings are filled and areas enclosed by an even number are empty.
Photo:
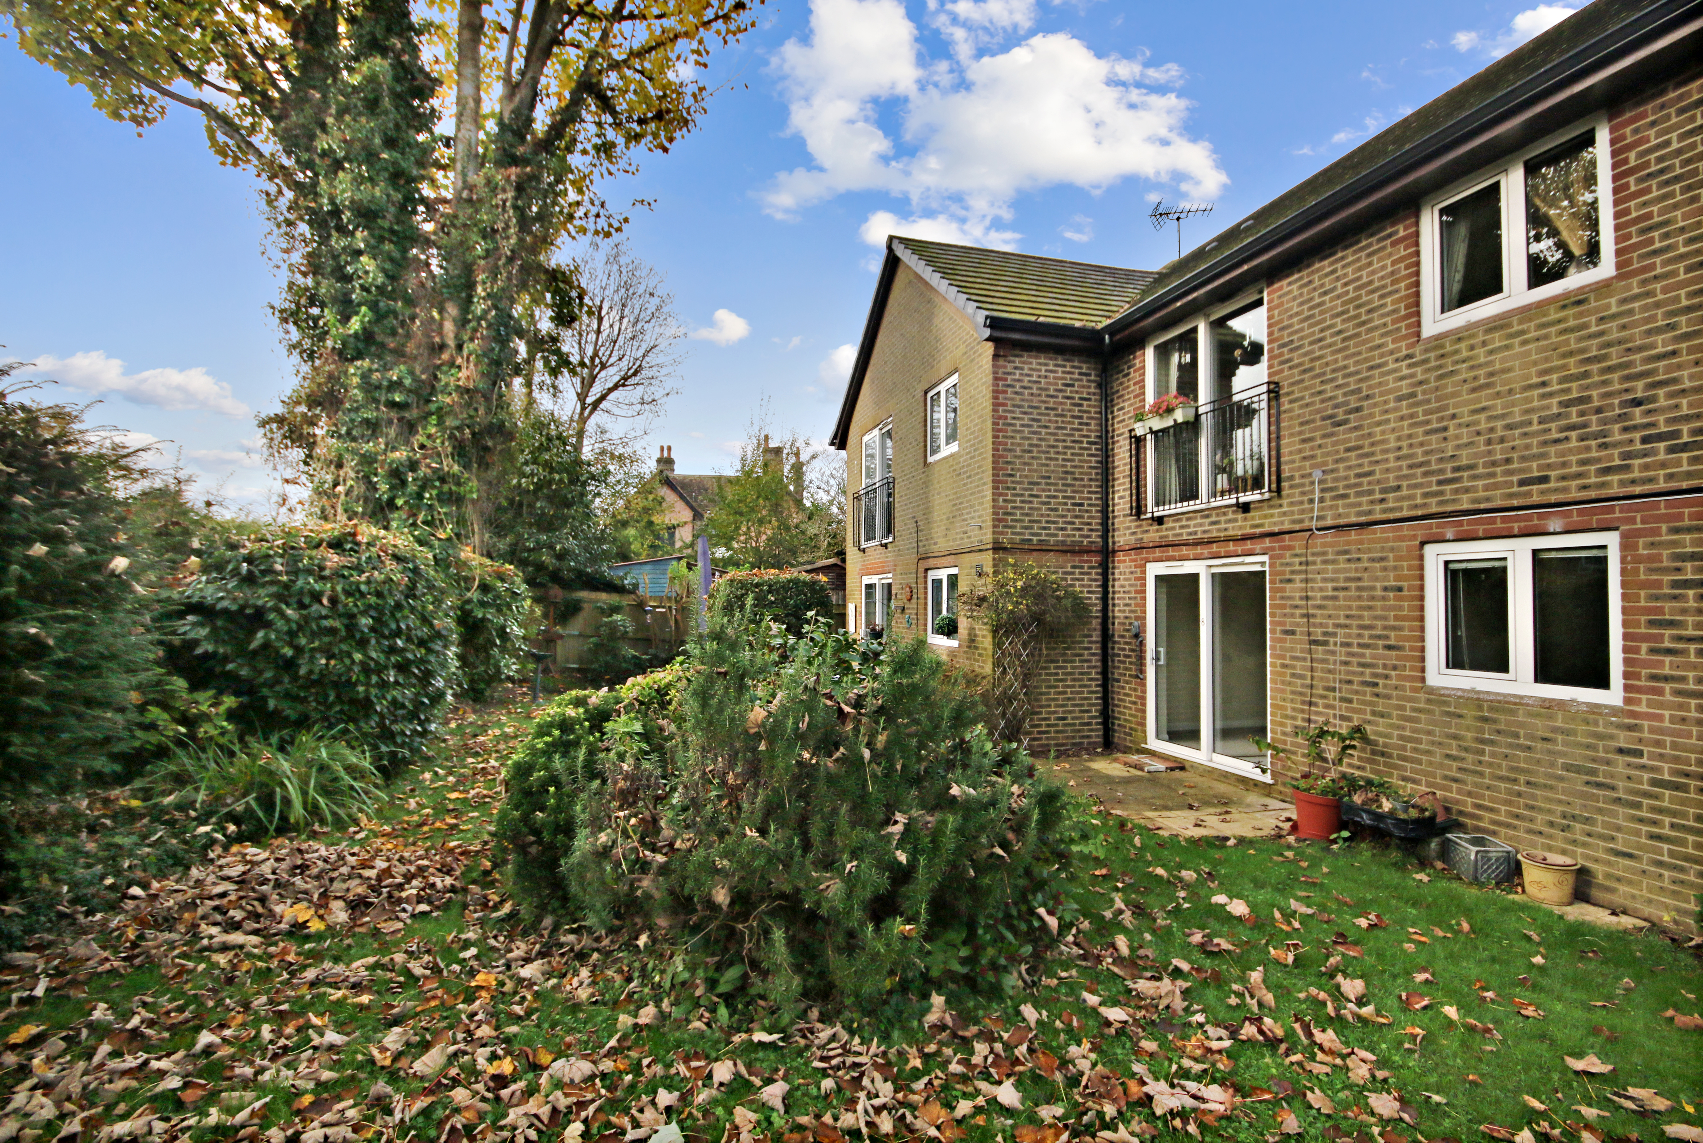
M1684 34L1700 9L1700 0L1594 0L1160 267L1131 310L1110 324L1110 332L1119 332L1143 312L1156 310L1167 296L1194 290L1202 279L1219 276L1238 262L1250 262L1265 247L1294 238L1308 245L1323 240L1325 235L1310 233L1310 228L1347 206L1369 206L1374 191L1391 189L1403 175L1419 172L1415 182L1402 186L1408 199L1417 199L1470 174L1463 167L1487 162L1478 153L1485 145L1509 150L1505 141L1477 136L1507 124L1516 114L1534 112L1536 121L1526 131L1534 140L1565 126L1558 121L1585 114L1580 104L1604 106L1616 87L1601 78L1606 68L1623 66L1623 85L1628 85L1637 72L1660 66L1662 56L1684 66L1688 48L1669 43L1664 51L1662 37ZM1689 36L1696 39L1694 27ZM1650 44L1657 46L1655 58L1642 51ZM1582 83L1585 77L1592 82Z

